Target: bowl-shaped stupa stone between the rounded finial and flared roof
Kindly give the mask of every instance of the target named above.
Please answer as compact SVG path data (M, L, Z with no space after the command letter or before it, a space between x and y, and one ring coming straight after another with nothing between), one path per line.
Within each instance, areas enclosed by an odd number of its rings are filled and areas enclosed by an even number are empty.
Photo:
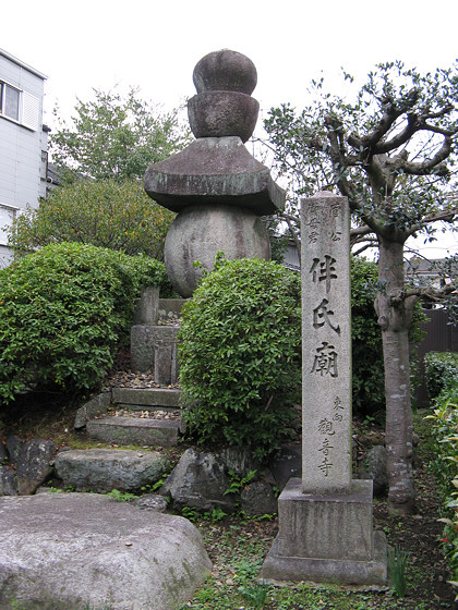
M204 91L188 101L188 118L195 137L236 135L246 142L253 134L258 111L258 101L240 91Z

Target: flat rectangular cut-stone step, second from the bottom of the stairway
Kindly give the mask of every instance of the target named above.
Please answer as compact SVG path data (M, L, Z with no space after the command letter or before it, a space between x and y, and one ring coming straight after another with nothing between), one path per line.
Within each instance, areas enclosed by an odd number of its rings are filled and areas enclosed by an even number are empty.
M178 419L101 417L87 422L89 437L116 444L172 447L178 442Z

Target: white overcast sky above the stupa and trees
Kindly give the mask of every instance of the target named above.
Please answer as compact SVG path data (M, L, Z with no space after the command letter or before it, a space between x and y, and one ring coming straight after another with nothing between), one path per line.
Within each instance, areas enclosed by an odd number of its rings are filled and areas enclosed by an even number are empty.
M322 70L338 87L340 66L363 78L377 62L430 71L458 57L457 0L22 0L2 3L0 23L0 47L48 77L51 127L57 102L68 118L76 96L116 84L177 107L195 94L197 61L222 48L255 63L264 113L285 101L301 108Z

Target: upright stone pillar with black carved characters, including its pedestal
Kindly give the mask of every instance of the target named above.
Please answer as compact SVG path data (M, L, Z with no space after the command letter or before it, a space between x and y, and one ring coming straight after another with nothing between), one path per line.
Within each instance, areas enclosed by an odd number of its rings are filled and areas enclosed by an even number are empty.
M302 202L302 479L291 478L278 499L267 581L387 580L372 480L351 478L349 229L345 197L318 193Z

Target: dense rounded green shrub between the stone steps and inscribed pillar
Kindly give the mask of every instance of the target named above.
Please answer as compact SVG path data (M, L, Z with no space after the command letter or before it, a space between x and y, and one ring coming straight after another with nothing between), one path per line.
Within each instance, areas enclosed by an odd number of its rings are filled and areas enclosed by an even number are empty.
M300 401L298 274L265 260L217 260L183 307L180 382L197 442L279 447Z

